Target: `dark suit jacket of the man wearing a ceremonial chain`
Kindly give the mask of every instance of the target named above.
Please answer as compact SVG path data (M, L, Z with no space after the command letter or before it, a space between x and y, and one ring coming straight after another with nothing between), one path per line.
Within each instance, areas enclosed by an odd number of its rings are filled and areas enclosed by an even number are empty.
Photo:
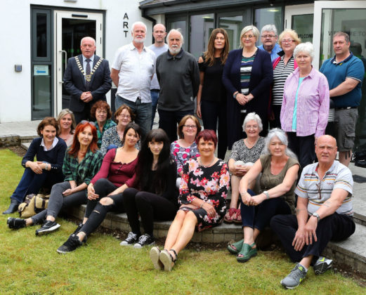
M78 55L81 67L83 66L82 55ZM99 60L98 55L94 55L93 67ZM91 69L93 69L91 67ZM77 62L74 57L67 60L67 67L63 76L64 86L66 91L70 94L70 110L73 112L82 112L84 110L85 103L80 99L81 93L86 91L85 78L81 74ZM105 93L112 88L112 79L110 78L110 65L108 60L102 60L98 69L91 76L91 95L93 100L89 102L91 105L98 100L106 100Z

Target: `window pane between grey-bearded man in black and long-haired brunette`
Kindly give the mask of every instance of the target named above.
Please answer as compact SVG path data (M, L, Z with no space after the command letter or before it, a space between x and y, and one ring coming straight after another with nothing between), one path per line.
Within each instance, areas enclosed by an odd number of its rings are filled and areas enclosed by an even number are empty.
M207 50L209 37L214 29L214 14L190 16L190 53L198 58Z

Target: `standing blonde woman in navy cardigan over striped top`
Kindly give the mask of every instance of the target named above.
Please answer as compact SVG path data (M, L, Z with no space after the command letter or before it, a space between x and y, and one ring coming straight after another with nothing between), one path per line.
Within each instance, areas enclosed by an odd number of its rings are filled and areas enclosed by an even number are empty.
M244 137L241 129L244 117L256 112L261 117L263 131L268 131L268 103L273 68L270 55L256 47L259 30L253 25L242 29L240 49L230 51L223 68L223 84L227 93L228 146Z

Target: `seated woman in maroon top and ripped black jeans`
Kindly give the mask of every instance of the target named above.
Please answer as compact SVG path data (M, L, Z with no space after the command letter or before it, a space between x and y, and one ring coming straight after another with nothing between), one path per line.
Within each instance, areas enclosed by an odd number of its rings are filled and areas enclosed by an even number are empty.
M88 185L88 204L84 221L57 249L58 253L74 251L86 242L86 237L98 228L107 212L124 212L123 192L135 182L138 155L135 145L140 139L140 134L138 124L129 123L124 129L123 146L111 149L105 154L100 171Z

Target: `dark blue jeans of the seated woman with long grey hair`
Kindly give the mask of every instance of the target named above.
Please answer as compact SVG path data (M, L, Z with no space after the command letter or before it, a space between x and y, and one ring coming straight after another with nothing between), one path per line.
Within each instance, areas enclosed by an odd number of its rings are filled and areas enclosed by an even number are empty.
M248 190L248 192L251 196L256 195L252 190ZM277 214L291 214L289 205L281 197L265 199L258 206L244 205L241 198L240 203L242 226L248 226L253 229L257 228L259 231L270 224L270 218L273 216Z

